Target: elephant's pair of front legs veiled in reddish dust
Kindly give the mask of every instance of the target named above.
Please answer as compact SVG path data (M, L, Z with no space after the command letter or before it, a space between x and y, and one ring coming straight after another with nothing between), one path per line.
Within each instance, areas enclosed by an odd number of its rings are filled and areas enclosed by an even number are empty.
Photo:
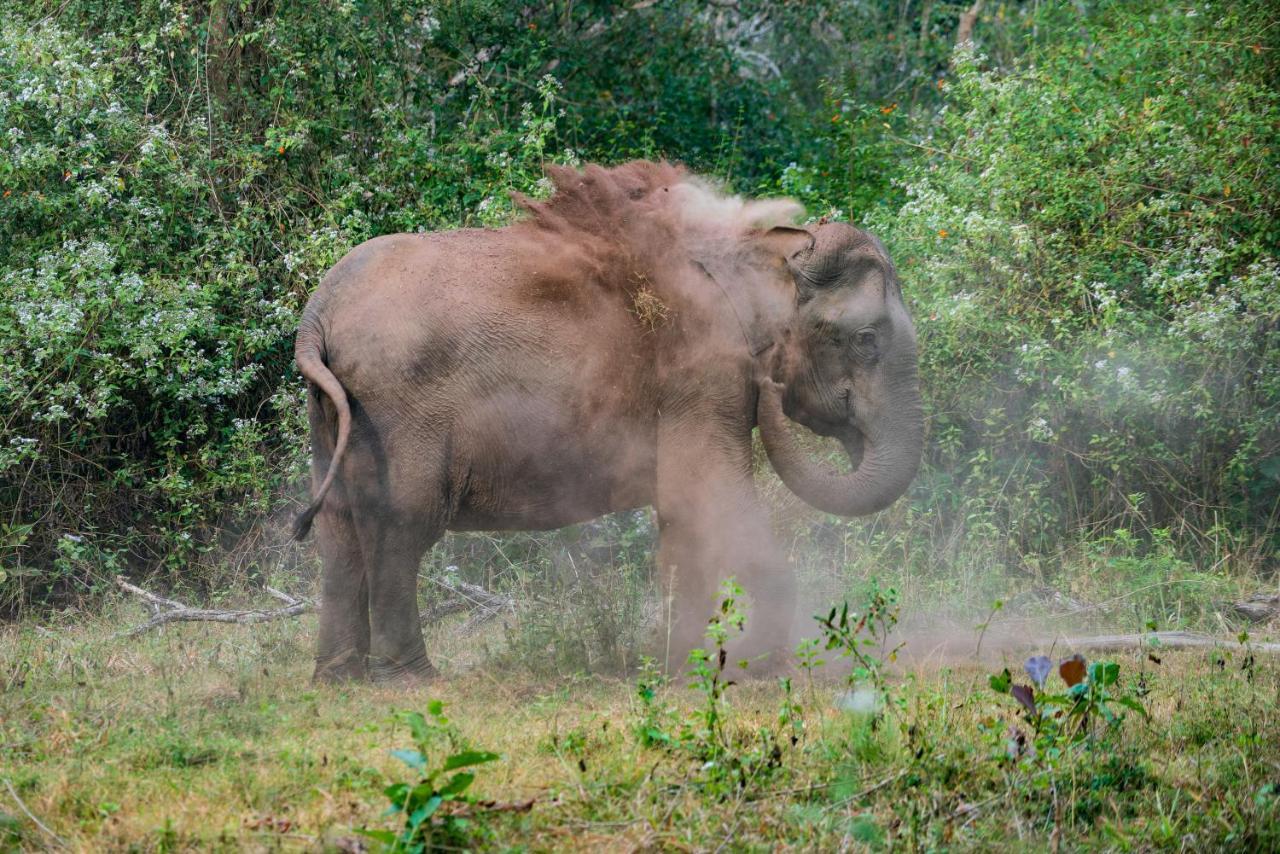
M666 447L664 447L666 444ZM703 644L721 583L746 592L746 636L731 644L755 670L781 663L795 616L795 572L774 543L751 483L750 446L659 440L659 568L666 581L667 666L681 667ZM663 453L666 451L666 453ZM759 661L767 657L768 661Z

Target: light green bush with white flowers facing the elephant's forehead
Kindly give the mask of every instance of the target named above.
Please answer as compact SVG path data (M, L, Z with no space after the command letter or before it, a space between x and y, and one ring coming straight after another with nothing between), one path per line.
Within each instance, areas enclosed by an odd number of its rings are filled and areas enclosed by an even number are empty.
M1147 5L1064 9L1009 68L959 52L872 218L920 330L918 501L1015 552L1280 521L1275 59L1247 47L1261 6Z

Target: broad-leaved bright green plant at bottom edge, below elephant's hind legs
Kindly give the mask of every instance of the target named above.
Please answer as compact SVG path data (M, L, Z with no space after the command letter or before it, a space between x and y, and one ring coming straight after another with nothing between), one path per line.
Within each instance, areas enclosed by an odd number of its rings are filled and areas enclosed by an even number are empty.
M392 750L392 755L420 775L417 782L393 782L383 790L390 800L385 814L403 816L403 827L399 834L388 830L358 831L383 842L389 851L417 854L466 844L474 828L471 819L462 813L466 807L476 804L476 799L467 794L467 789L475 782L475 772L465 768L500 758L486 750L462 749L457 730L444 716L444 703L440 700L428 703L426 711L429 718L420 712L401 712L396 716L397 722L408 726L413 746ZM433 766L429 757L440 741L451 752Z

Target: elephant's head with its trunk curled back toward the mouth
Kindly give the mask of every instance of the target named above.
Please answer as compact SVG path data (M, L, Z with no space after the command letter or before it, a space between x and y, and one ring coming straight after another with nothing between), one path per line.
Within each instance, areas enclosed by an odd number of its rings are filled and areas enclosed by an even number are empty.
M883 243L845 223L773 229L795 284L794 314L760 380L756 420L791 492L840 516L873 513L906 492L924 419L915 328ZM840 439L852 471L815 462L786 420Z

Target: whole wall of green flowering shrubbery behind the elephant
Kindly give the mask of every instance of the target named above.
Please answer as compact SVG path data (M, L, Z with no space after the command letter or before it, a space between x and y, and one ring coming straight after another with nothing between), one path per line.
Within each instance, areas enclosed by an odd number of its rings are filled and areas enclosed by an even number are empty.
M927 466L800 539L937 575L1274 570L1274 9L988 3L954 51L968 8L0 0L4 608L225 581L305 488L292 333L325 269L507 222L544 160L634 156L899 262ZM600 530L643 547L635 520Z

